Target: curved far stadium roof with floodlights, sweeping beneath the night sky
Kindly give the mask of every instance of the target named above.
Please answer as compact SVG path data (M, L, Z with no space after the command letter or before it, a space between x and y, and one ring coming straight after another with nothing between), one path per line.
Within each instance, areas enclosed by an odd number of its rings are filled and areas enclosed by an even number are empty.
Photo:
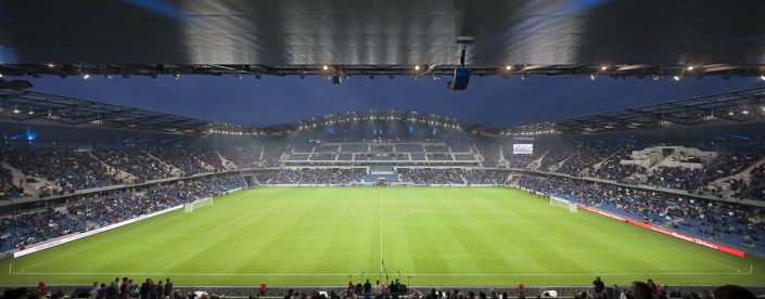
M1 89L0 117L13 121L43 120L69 126L182 134L279 136L303 129L357 120L420 122L477 135L582 134L670 126L761 121L765 119L765 88L677 100L514 128L498 128L448 116L396 109L348 110L255 128L40 92Z

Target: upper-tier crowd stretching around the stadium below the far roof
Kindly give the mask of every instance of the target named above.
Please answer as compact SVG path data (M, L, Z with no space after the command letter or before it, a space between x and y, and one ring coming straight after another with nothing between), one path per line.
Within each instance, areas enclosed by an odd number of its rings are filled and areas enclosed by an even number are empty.
M358 144L355 144L358 145ZM401 147L411 147L411 144L403 144ZM301 147L302 146L302 147ZM373 144L370 146L372 153L356 155L357 160L408 160L408 155L411 159L432 159L432 160L449 160L451 154L434 154L428 151L448 151L450 147L443 145L417 145L422 152L410 154L394 154L394 146L390 144ZM715 186L712 185L714 180L719 178L728 178L737 174L753 162L765 156L765 146L756 143L732 145L722 147L715 159L701 160L692 156L686 157L686 160L696 160L702 162L700 169L689 167L658 167L647 171L645 167L635 165L623 165L622 160L630 159L633 146L608 146L604 144L579 144L577 146L557 145L548 147L540 145L535 148L532 155L513 155L512 148L507 144L492 143L475 143L475 144L459 144L454 145L460 151L471 151L477 148L480 157L482 157L482 166L484 168L526 168L538 171L551 171L573 177L591 177L605 180L614 180L627 184L648 184L667 188L684 190L690 193L705 192L706 194L717 194L718 196L738 196L747 199L765 198L763 191L765 187L760 186L758 180L741 180L740 178L729 178L727 183L730 183L731 193L722 194ZM357 146L358 147L358 146ZM426 148L425 148L426 147ZM317 152L314 154L302 154L305 157L298 157L301 154L286 155L285 151L293 148L298 151L303 148L308 152ZM39 197L51 195L71 194L76 190L92 188L106 186L111 184L143 182L156 179L166 179L181 176L191 176L203 172L217 172L225 170L251 169L251 168L269 168L279 167L282 159L295 160L301 158L307 164L306 167L320 165L323 167L334 166L335 152L345 151L353 146L346 145L315 145L296 144L288 146L286 144L275 143L268 145L256 145L253 147L231 146L220 148L187 148L179 146L160 146L160 147L139 147L128 146L124 148L31 148L27 146L7 147L2 150L2 160L9 167L17 168L25 174L23 180L16 182L5 171L0 170L0 193L3 193L3 198L13 198L24 196L24 190L28 188L28 183L36 184L36 194ZM502 148L502 150L500 150ZM303 151L301 150L301 151ZM398 145L396 146L398 151ZM321 152L321 153L318 153ZM502 159L505 162L500 162ZM310 156L313 155L313 156ZM341 160L347 160L348 154L341 157ZM419 156L418 156L419 155ZM463 154L472 155L472 154ZM459 156L458 160L469 159L468 156ZM536 162L533 161L537 161ZM297 164L293 164L297 166ZM459 165L459 164L457 164ZM417 165L418 167L426 165ZM438 166L451 166L450 164L438 164ZM455 171L455 170L451 170ZM462 171L462 170L460 170ZM762 170L758 170L762 172ZM320 171L319 171L320 172ZM755 169L752 177L757 178ZM289 179L293 173L286 173L279 181L284 182L321 182L326 183L331 180L320 178ZM307 173L309 176L318 176L317 173ZM433 179L413 179L415 181L428 181L431 183L452 180L443 179L451 176L450 173L433 173L426 174L437 177ZM463 171L456 174L463 177L462 182L471 182L475 176L464 176ZM332 176L329 176L332 178ZM409 177L405 178L405 181ZM340 177L340 181L346 178ZM482 181L481 179L476 179ZM50 182L50 183L49 183ZM347 182L332 182L347 183ZM715 192L715 193L712 193Z

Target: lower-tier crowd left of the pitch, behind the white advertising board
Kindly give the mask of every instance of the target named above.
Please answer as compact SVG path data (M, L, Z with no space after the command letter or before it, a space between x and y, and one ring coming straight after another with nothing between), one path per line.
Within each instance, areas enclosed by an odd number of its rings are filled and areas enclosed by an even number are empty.
M241 177L207 177L75 196L61 205L0 217L0 252L122 222L242 187Z

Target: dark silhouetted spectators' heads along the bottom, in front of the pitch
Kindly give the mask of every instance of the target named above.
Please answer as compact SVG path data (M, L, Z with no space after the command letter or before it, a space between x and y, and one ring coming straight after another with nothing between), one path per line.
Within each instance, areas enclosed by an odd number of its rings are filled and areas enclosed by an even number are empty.
M139 283L140 282L140 283ZM584 285L584 283L583 283ZM115 277L111 282L94 282L89 287L75 288L71 294L64 294L62 288L49 287L44 282L37 284L37 289L26 287L7 288L0 294L0 299L38 299L51 298L88 298L88 299L219 299L228 298L226 294L209 294L203 290L183 294L180 288L175 287L174 282L167 277L164 280L145 278L135 281L128 276ZM321 288L319 288L321 289ZM517 286L498 288L480 288L461 291L456 287L438 287L430 290L419 291L399 282L392 280L390 284L379 280L372 284L369 280L366 283L353 281L348 282L344 290L328 287L327 291L315 289L313 291L301 291L293 288L282 288L273 290L266 282L260 282L259 287L253 290L250 299L258 298L283 298L283 299L508 299L508 298L574 298L574 299L665 299L665 298L689 298L689 299L754 299L757 296L752 290L737 286L724 285L717 287L693 287L680 288L662 285L651 278L646 281L635 281L628 285L610 285L600 276L596 276L591 286L585 291L577 290L574 294L564 294L558 287L526 287L522 283ZM570 290L569 290L570 291ZM573 297L572 297L573 296Z

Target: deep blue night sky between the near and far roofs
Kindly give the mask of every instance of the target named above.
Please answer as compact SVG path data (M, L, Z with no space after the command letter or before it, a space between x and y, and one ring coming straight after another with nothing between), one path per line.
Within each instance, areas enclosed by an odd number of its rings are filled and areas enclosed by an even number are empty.
M446 89L447 78L415 80L352 77L331 84L320 77L169 76L157 79L91 76L26 78L35 91L81 98L203 119L266 126L365 108L418 110L490 126L511 127L610 109L765 86L758 77L663 78L473 77L466 91Z

